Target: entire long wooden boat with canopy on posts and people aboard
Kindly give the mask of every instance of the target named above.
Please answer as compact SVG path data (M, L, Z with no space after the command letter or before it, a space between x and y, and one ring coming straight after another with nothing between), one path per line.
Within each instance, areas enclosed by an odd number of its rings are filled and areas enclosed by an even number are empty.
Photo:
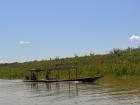
M75 78L71 78L71 71L75 70ZM24 82L66 82L66 81L81 81L81 82L94 82L97 79L101 78L101 76L93 76L93 77L86 77L86 78L78 78L78 67L77 66L61 66L61 65L56 65L53 68L46 68L46 70L41 70L41 69L32 69L30 70L30 76L26 78L26 80L23 80ZM55 79L50 78L50 71L56 70L58 73L57 77ZM68 71L68 77L69 79L60 79L60 70L67 70ZM45 71L46 76L45 79L43 80L38 80L38 72L40 71Z

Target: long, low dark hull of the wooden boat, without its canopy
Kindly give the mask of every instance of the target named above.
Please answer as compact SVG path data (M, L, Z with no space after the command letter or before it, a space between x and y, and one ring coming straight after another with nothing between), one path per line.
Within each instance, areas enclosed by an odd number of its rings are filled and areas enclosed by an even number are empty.
M88 77L88 78L77 78L77 79L62 79L62 80L23 80L24 82L45 82L45 83L51 83L51 82L67 82L67 81L80 81L80 82L94 82L101 78L101 76L94 76L94 77Z

